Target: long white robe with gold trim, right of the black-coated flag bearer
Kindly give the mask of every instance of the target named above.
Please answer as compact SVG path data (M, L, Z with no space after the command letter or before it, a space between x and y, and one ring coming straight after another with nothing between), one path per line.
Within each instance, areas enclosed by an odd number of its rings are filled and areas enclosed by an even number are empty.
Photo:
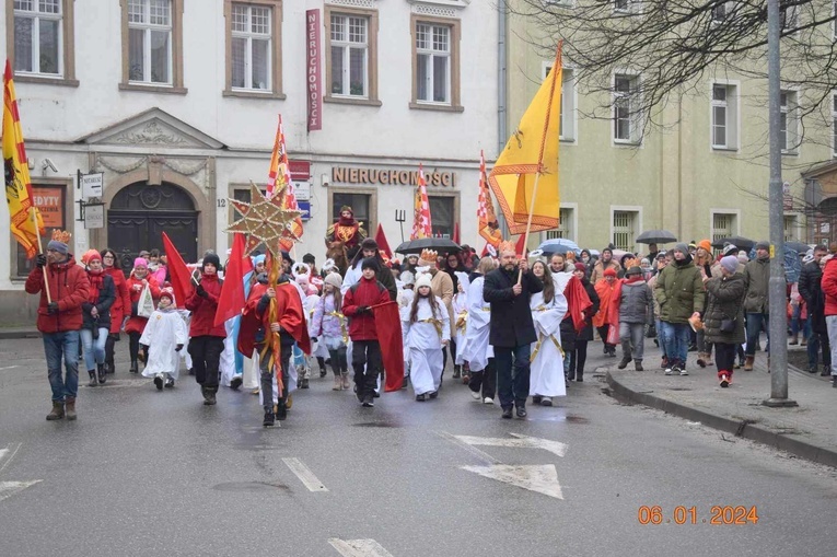
M544 303L544 293L538 292L532 294L530 307L538 340L532 344L534 359L530 365L528 394L567 396L563 355L560 350L561 320L567 314L567 299L560 291L556 291L553 301ZM537 353L535 353L536 349Z

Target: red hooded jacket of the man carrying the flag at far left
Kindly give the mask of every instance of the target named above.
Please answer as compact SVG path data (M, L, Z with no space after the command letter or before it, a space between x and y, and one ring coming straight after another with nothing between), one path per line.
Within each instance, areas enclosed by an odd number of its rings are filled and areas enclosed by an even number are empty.
M47 298L44 290L44 270L38 267L30 271L26 278L26 292L40 292L38 303L38 330L42 333L65 333L79 330L82 325L81 304L88 301L90 281L83 267L75 265L72 255L63 263L46 267L49 277L49 295L58 302L58 313L47 312Z

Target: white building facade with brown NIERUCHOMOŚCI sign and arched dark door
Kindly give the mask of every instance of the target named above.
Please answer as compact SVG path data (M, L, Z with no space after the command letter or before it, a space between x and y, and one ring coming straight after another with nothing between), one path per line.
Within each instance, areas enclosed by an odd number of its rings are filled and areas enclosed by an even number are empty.
M477 236L478 155L499 143L490 2L5 0L0 18L36 204L74 254L108 246L128 270L163 231L186 260L223 254L279 114L307 210L298 257L322 264L342 205L393 247L403 211L408 237L419 164L434 233ZM101 197L79 173L103 174ZM31 324L31 262L8 227L0 246L0 311Z

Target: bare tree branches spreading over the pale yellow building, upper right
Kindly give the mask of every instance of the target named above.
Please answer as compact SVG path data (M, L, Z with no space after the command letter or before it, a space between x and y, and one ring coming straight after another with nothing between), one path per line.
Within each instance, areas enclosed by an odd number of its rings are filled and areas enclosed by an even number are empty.
M524 39L544 51L563 39L565 63L576 68L579 91L603 93L589 117L611 116L624 96L614 76L626 71L639 76L628 94L640 134L666 124L663 108L673 97L707 95L707 77L764 80L766 105L766 0L505 1L511 13L537 24L539 34ZM805 120L809 128L819 130L832 124L832 95L837 89L835 14L830 0L780 0L780 9L782 88L803 93L797 107L799 143ZM821 131L805 140L830 144L826 136Z

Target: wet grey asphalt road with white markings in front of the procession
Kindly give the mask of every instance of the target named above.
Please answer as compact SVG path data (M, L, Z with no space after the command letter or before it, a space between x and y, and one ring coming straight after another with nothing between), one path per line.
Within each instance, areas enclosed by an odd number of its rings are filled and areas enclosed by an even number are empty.
M833 554L837 471L621 406L590 379L512 421L462 385L364 409L316 379L266 430L248 393L205 407L189 381L160 393L123 371L51 423L40 341L0 341L0 555ZM641 506L662 524L640 524ZM678 506L697 523L675 524ZM713 506L758 522L712 525Z

